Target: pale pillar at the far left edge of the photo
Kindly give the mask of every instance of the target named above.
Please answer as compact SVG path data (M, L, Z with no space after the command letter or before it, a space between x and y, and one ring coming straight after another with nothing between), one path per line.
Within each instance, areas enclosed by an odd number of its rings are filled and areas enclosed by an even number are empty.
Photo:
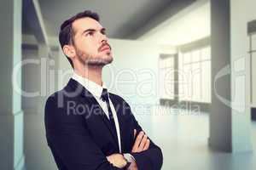
M24 167L23 154L23 111L21 94L21 68L12 75L21 61L21 15L22 1L3 0L0 3L1 38L0 71L0 169L20 170Z

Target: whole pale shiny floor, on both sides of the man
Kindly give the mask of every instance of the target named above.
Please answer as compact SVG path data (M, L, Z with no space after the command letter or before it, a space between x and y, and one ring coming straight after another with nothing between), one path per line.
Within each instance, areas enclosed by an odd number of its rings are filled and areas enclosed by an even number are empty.
M149 123L149 126L153 125L149 128L149 136L163 151L164 164L161 170L256 169L256 150L254 154L235 155L208 149L207 113L170 112L169 108L160 109L154 111L152 123ZM56 170L54 159L42 135L44 119L34 114L26 114L24 119L26 169ZM256 149L256 122L252 122L252 136Z

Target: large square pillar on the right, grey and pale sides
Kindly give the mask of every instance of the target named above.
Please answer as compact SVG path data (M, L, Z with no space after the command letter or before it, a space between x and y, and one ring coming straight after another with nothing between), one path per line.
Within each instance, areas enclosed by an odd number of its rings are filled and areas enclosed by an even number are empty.
M242 29L237 28L236 21L233 21L243 14L234 11L241 9L239 5L230 8L235 1L211 0L212 111L209 145L229 152L252 150L247 105L250 92L246 85L249 77L246 72L247 31L244 29L246 25Z

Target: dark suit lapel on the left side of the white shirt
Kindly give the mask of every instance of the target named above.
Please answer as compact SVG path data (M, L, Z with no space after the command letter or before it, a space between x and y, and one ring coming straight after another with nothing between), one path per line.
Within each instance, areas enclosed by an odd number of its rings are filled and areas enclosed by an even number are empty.
M84 88L81 84L79 84L79 82L76 82L73 79L69 80L68 85L70 85L73 89L75 89L75 90L77 90L79 92L79 101L81 103L84 103L84 105L88 105L89 108L90 108L90 111L92 111L92 109L93 109L91 116L98 116L98 115L100 115L102 121L104 122L106 127L108 127L108 130L112 134L113 141L114 141L114 143L115 143L115 145L117 146L117 149L118 149L119 148L119 144L118 144L117 134L114 133L114 129L111 126L111 124L110 124L110 122L108 120L108 116L106 116L106 113L102 110L102 107L97 102L95 97L92 94L90 94L90 92L86 88ZM97 112L97 111L99 111L99 112Z

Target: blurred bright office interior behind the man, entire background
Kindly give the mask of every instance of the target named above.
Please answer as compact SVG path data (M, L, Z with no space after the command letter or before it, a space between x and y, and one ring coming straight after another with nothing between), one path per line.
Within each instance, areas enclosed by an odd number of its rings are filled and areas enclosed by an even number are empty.
M256 168L256 1L2 0L1 170L56 170L44 104L73 69L61 23L85 9L106 27L109 91L163 151L163 170Z

